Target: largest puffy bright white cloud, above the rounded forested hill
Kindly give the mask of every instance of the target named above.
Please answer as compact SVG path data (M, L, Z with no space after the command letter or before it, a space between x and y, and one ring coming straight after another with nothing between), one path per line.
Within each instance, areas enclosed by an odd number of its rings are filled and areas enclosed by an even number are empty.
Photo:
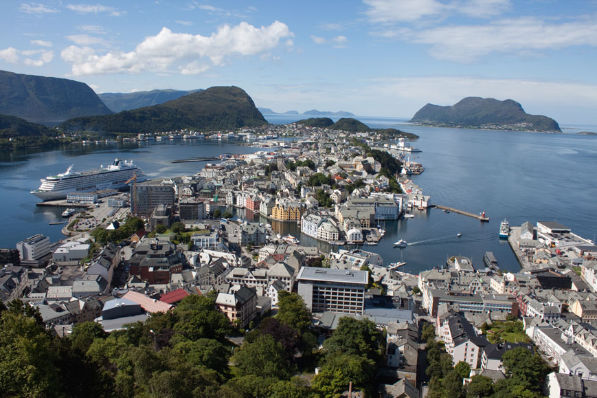
M185 65L180 70L192 71L196 68L189 65L198 59L208 58L212 65L224 65L229 56L264 54L277 47L282 38L291 36L289 27L279 21L259 28L246 22L233 27L223 25L210 36L174 33L164 27L157 35L145 38L131 52L98 55L89 46L71 45L61 56L72 64L74 76L170 71L179 64ZM292 42L286 41L286 45L292 45Z

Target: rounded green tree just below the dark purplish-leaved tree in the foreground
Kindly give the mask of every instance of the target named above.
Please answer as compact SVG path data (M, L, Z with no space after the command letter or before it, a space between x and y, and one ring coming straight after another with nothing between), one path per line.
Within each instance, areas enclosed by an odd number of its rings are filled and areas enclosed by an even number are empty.
M244 342L235 351L233 360L241 375L289 379L293 371L284 347L271 335L260 335L254 342Z

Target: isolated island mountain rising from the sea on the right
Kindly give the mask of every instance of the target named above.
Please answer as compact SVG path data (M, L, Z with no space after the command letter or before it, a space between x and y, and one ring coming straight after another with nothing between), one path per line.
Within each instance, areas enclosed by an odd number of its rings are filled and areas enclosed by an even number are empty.
M410 122L433 126L468 127L519 131L557 131L558 123L546 116L529 115L513 100L467 97L451 107L427 104Z

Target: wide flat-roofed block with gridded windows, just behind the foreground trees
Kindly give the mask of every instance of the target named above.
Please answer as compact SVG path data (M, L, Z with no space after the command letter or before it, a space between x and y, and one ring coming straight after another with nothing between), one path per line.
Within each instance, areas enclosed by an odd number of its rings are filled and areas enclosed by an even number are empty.
M368 279L367 271L301 267L298 294L313 312L363 315Z

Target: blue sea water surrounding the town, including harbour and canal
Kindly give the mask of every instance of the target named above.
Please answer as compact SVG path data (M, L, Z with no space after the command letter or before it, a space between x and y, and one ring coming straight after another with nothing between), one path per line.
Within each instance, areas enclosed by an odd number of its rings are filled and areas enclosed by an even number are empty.
M264 115L274 124L285 124L301 115ZM381 254L386 264L403 261L402 270L412 274L440 267L451 256L467 256L473 265L483 267L486 251L495 254L499 266L517 271L519 265L508 243L499 239L499 223L558 221L587 239L597 233L597 137L578 135L597 131L597 126L564 125L564 134L447 129L408 124L400 118L358 118L370 127L392 127L415 133L412 145L422 152L411 158L423 164L425 172L412 176L431 196L431 203L467 212L485 212L488 223L438 209L413 210L414 219L385 221L387 231L379 245L341 247ZM198 173L207 162L175 163L172 160L212 157L227 153L251 153L256 148L234 142L166 141L104 144L71 144L49 152L22 151L0 155L0 247L14 245L33 234L45 234L52 242L64 239L61 225L63 208L36 206L30 194L39 179L74 170L106 165L116 157L131 159L150 178L176 177ZM414 158L416 156L416 159ZM250 210L235 216L267 223ZM316 241L300 233L295 223L270 222L284 235L292 234L304 245L321 250L337 246ZM458 234L461 234L458 237ZM395 248L403 239L407 247Z

